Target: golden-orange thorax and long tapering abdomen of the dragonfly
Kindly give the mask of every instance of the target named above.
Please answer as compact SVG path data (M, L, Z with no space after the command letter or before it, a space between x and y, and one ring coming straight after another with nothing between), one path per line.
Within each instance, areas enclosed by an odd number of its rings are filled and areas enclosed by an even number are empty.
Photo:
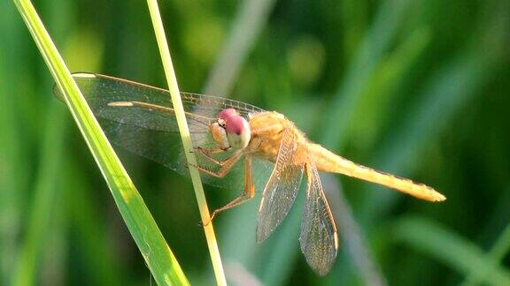
M311 142L290 120L278 112L267 111L252 114L249 124L251 141L248 148L255 156L274 162L279 152L282 134L284 131L290 130L294 133L295 138L295 164L307 162L306 156L309 156L317 169L321 171L344 174L375 184L383 184L419 199L430 201L445 199L441 193L425 184L414 183L406 178L371 169L334 154L321 145Z

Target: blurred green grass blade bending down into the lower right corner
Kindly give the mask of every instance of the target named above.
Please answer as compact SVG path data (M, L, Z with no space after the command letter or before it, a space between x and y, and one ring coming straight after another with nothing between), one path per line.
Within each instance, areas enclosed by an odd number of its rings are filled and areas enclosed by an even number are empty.
M510 285L510 271L485 258L483 251L467 239L421 217L406 217L398 222L390 237L427 252L457 271L468 274L483 269L480 277L489 285Z

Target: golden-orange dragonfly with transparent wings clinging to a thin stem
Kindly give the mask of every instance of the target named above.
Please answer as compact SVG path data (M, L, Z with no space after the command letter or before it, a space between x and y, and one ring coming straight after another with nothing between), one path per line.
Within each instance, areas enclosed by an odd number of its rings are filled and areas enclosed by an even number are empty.
M276 111L223 97L181 94L193 144L193 150L183 150L167 90L95 73L74 73L73 79L114 144L182 175L189 175L184 152L195 152L195 167L206 175L206 184L241 192L214 210L212 218L262 190L256 230L259 243L288 215L305 181L299 245L306 262L318 275L328 274L339 244L319 171L382 184L419 199L445 199L425 184L334 154L307 139L290 119ZM58 88L54 87L53 92L63 100Z

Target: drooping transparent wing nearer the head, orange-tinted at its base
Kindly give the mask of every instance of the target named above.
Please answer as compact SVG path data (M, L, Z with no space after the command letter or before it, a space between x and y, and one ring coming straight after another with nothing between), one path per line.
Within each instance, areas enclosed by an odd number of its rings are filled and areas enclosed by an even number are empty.
M264 188L260 200L257 225L257 241L264 241L289 213L303 178L303 165L294 164L295 147L298 143L294 133L287 129L274 164L273 173Z

